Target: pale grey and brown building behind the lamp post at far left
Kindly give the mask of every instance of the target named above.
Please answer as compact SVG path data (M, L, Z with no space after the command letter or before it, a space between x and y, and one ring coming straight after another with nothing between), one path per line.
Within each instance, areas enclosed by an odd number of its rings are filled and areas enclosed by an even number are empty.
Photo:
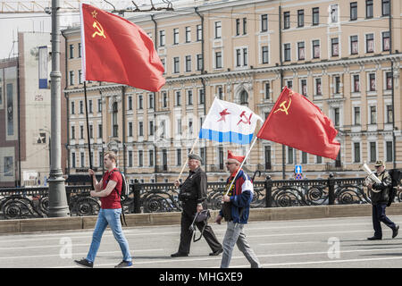
M47 185L52 120L50 52L50 33L20 32L18 57L0 62L0 130L4 134L0 139L0 187ZM61 102L65 111L65 100ZM62 117L65 122L65 112Z

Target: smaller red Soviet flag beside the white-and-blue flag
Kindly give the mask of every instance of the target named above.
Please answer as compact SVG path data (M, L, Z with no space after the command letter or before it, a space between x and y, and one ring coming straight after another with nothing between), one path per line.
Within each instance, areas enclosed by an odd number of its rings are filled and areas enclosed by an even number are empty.
M340 148L337 134L320 108L285 87L257 137L336 160Z

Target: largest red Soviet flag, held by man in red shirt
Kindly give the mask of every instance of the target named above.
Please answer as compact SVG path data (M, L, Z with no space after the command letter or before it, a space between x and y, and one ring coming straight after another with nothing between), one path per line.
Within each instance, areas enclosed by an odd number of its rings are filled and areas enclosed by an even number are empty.
M88 4L81 5L84 80L109 81L158 91L163 64L147 33L134 23Z

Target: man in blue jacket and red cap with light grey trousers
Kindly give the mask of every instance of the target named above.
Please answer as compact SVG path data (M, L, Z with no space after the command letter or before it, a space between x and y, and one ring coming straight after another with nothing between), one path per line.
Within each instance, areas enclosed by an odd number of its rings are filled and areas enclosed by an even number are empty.
M222 198L223 206L216 217L216 223L221 224L222 217L228 222L225 237L222 242L223 254L221 268L228 268L230 265L231 254L234 245L237 244L239 250L244 254L252 268L260 268L260 262L255 256L253 249L250 248L246 235L243 232L244 225L248 221L250 203L253 199L253 183L243 170L239 171L244 156L234 156L228 151L228 161L226 168L230 172L230 177L226 181L226 189L230 188L228 195ZM238 175L236 173L239 171ZM235 178L236 176L236 178Z

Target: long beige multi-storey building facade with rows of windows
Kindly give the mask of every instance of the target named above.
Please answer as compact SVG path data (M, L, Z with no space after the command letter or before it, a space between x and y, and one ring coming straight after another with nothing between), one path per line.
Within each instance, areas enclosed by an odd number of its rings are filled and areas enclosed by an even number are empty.
M214 97L247 105L266 118L281 89L308 97L339 130L336 161L257 140L250 173L308 179L363 176L361 164L402 166L399 1L213 1L129 18L154 40L166 84L148 92L88 82L92 166L113 149L130 180L174 181ZM80 28L66 38L69 172L89 167ZM210 180L227 177L227 150L249 146L200 140Z

